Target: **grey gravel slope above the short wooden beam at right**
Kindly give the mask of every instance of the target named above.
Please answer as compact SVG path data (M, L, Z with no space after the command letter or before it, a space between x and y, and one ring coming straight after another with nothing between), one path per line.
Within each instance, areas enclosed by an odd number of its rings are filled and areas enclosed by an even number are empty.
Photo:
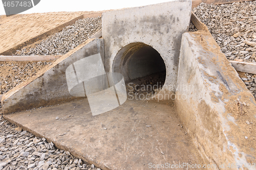
M256 1L225 5L201 3L193 12L208 27L229 60L256 60Z

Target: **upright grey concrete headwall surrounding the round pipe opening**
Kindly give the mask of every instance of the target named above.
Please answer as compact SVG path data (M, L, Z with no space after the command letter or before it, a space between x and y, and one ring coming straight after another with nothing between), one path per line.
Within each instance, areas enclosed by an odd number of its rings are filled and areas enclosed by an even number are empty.
M166 67L165 86L172 86L175 91L181 36L188 30L190 15L191 1L104 12L102 37L105 42L106 72L120 72L125 77L121 66L130 55L126 54L129 50L122 48L131 43L144 43L155 48L163 58ZM116 56L118 52L122 54Z

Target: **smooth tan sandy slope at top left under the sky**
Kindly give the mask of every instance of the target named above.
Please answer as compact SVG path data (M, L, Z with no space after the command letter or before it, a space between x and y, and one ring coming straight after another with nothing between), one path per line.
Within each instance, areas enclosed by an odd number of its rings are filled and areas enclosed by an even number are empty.
M0 53L86 12L49 12L0 16Z

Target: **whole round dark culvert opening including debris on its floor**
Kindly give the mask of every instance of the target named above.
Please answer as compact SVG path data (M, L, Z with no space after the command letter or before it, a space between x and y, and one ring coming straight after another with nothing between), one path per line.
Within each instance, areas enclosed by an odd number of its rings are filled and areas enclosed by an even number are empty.
M164 85L166 77L160 54L141 42L122 47L113 60L112 71L123 75L127 92L132 90L134 94L155 94Z

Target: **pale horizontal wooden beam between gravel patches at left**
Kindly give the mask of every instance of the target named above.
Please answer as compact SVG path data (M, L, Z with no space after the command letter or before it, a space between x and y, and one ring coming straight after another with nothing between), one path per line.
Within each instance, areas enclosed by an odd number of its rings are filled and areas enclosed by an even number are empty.
M0 56L0 61L49 61L61 56Z

